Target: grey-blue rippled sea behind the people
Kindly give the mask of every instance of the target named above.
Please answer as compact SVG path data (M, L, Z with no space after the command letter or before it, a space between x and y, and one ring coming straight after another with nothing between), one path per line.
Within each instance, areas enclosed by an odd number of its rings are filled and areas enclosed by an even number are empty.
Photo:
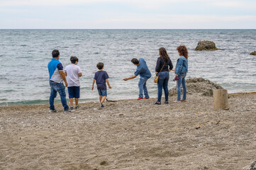
M195 51L199 40L211 40L223 50ZM96 64L104 62L112 89L109 100L138 98L138 80L133 76L133 58L144 58L152 78L147 82L151 98L157 97L153 82L158 49L165 47L172 63L177 47L189 50L187 78L203 77L223 86L228 93L256 91L256 30L0 30L0 106L48 103L48 62L52 50L60 50L60 62L79 58L82 69L80 101L98 101L91 91ZM176 86L170 72L169 89ZM67 92L67 89L66 89ZM60 102L60 96L55 99Z

